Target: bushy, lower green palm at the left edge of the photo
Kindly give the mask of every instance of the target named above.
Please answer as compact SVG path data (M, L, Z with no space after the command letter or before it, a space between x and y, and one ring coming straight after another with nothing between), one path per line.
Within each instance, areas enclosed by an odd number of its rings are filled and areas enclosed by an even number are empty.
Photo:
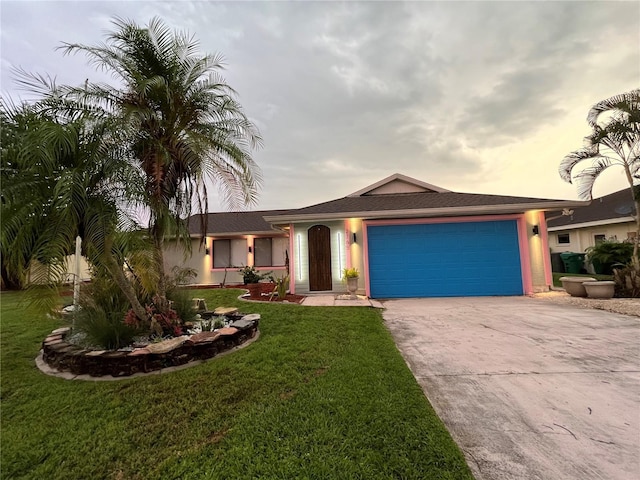
M60 281L80 235L91 263L108 271L136 315L146 318L117 243L122 194L136 183L114 148L118 131L109 122L49 114L54 97L42 104L0 105L3 273L24 277L37 261L34 284Z

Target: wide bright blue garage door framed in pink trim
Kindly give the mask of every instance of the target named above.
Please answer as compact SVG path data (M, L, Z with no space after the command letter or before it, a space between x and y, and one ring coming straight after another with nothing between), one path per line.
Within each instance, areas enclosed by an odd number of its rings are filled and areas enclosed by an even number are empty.
M367 227L374 298L522 295L515 220Z

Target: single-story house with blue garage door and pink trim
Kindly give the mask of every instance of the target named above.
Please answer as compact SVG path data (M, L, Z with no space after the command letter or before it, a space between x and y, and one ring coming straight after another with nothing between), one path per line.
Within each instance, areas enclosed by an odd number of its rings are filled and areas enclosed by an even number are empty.
M210 214L210 255L194 238L186 265L200 272L197 283L217 284L222 265L254 265L263 251L266 270L284 271L288 257L299 294L344 292L346 267L358 268L359 292L373 298L530 294L552 284L545 211L586 204L456 193L395 174L306 208ZM167 257L183 264L176 255ZM227 270L226 283L239 281Z

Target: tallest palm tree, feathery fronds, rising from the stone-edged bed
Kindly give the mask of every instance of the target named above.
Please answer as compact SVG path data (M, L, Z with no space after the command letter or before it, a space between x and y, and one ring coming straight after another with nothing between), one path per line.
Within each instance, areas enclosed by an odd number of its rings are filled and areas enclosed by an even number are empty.
M260 135L243 113L235 91L219 75L221 58L198 54L193 37L172 32L154 18L147 27L121 19L97 46L64 44L109 71L119 86L87 82L64 97L117 119L129 158L144 175L136 199L150 214L149 235L158 271L157 298L166 304L163 246L168 234L187 248L192 209L207 213L207 182L217 184L230 206L254 203L260 172L251 150ZM206 222L207 215L202 215ZM202 225L203 235L206 223Z

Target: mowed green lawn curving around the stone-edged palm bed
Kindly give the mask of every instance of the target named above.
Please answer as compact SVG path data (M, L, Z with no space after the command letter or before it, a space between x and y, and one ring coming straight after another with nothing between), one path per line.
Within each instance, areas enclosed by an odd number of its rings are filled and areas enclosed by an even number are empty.
M2 293L2 478L471 479L378 311L249 304L249 347L164 375L66 381L34 365L63 324Z

